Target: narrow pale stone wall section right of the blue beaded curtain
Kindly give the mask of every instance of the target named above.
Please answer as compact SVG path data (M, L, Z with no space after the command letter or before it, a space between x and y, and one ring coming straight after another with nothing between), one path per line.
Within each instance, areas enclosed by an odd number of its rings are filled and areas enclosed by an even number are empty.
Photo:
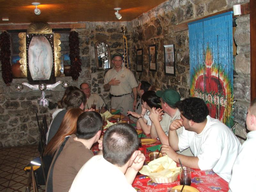
M234 116L236 134L246 138L245 119L251 100L250 80L250 15L236 19L235 42L237 45L234 75Z

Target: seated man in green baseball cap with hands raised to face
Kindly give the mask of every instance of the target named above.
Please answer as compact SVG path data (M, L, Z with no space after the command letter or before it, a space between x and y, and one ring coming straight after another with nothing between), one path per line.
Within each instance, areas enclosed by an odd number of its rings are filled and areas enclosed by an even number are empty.
M151 125L150 136L151 138L159 138L162 144L169 145L168 134L169 127L172 121L180 119L180 111L176 107L176 103L180 101L180 93L173 89L165 89L164 91L157 91L156 96L160 97L161 106L164 111L164 115L161 119L161 113L152 109L149 115L153 124ZM177 129L177 133L181 132L182 129ZM190 149L185 149L181 154L186 156L193 156Z

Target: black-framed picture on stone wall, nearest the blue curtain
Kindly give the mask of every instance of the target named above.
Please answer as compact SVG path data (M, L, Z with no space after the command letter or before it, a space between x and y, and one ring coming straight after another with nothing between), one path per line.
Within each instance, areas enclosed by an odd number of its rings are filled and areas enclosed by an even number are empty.
M175 76L174 44L164 45L164 74Z

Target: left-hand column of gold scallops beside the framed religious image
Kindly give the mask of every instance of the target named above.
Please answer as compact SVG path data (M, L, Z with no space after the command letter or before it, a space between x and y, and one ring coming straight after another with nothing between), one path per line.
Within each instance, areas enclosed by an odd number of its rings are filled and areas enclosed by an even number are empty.
M20 70L22 71L21 76L27 77L27 56L26 56L26 33L19 33L20 37Z

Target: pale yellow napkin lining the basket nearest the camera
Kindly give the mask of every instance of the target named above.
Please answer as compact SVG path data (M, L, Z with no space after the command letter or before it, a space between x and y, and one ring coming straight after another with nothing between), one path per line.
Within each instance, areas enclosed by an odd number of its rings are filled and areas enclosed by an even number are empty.
M172 177L177 176L180 172L180 167L167 155L156 160L150 161L148 165L144 165L140 170L143 175L149 177Z

